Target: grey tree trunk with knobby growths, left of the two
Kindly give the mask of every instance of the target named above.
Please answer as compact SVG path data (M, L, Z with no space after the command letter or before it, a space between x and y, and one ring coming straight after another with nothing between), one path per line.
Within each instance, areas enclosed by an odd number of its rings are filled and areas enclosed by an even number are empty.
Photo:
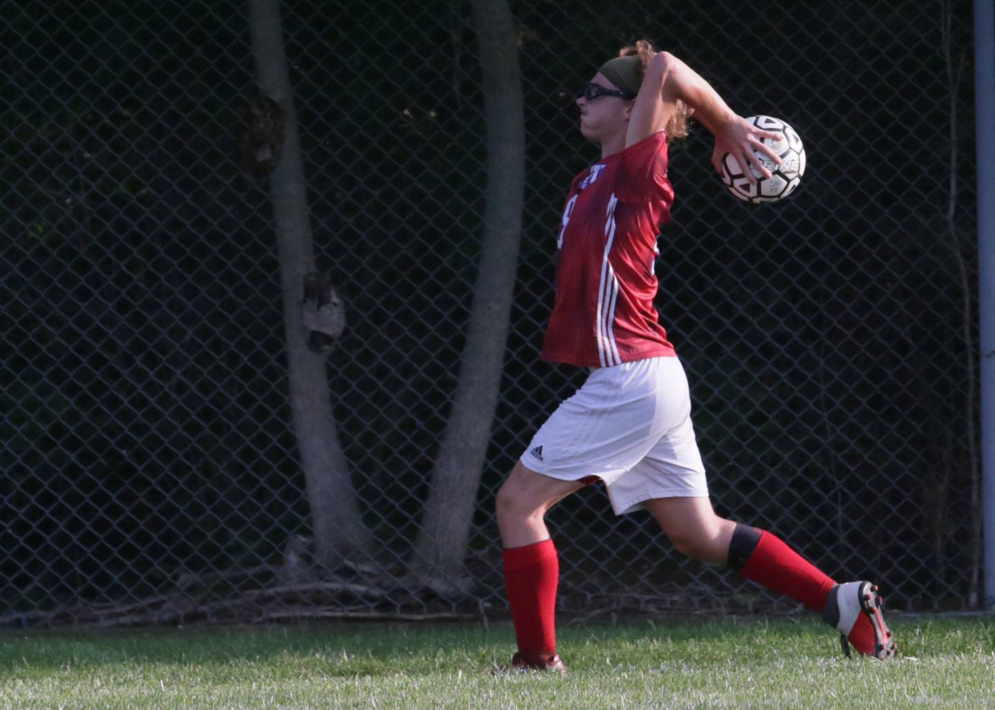
M314 253L280 0L249 0L249 22L260 89L283 112L283 144L276 146L270 196L280 255L290 401L307 486L314 561L332 568L344 559L365 555L370 545L338 442L324 357L307 349L300 322L303 277L314 270Z

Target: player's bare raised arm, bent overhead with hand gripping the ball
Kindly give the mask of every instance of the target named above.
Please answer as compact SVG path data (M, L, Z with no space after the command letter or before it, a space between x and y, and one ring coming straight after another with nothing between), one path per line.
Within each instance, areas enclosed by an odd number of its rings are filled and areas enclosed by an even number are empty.
M760 150L774 162L780 162L777 155L759 140L776 140L781 137L780 134L757 128L737 115L710 84L670 52L658 52L646 68L643 86L633 105L626 146L663 130L677 109L678 99L687 103L694 110L697 120L714 135L711 165L715 172L721 172L722 156L731 153L740 165L752 165L761 175L770 177L770 171L763 167L753 149ZM748 171L747 177L751 181L755 179Z

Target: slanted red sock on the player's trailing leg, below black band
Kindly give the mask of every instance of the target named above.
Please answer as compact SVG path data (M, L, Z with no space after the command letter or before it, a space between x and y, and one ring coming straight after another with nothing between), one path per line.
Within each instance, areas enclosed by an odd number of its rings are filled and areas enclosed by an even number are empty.
M760 540L739 574L822 613L836 583L788 547L776 535L761 531Z

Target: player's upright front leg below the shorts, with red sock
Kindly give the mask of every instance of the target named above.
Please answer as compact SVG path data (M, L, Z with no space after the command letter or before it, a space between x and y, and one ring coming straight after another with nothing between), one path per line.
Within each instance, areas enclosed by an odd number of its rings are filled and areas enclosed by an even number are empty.
M559 559L543 518L553 505L582 487L583 483L542 475L518 461L497 491L504 583L518 643L512 668L566 670L556 654Z

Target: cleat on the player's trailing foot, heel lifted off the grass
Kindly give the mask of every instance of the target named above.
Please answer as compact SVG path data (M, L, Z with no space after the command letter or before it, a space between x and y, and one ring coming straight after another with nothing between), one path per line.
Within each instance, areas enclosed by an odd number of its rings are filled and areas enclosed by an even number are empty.
M830 591L822 618L840 631L840 645L848 657L851 645L858 653L874 656L879 660L895 656L895 639L881 613L884 604L885 601L878 594L878 586L870 582L848 582L836 585ZM862 615L874 629L873 640L865 633L859 636L854 633Z

